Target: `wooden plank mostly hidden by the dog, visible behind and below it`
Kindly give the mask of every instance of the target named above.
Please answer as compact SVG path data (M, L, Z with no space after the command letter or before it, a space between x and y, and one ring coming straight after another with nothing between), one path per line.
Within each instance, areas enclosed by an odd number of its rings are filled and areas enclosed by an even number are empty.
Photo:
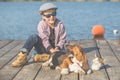
M79 44L78 40L70 40L67 44L74 45ZM61 75L61 80L78 80L79 75L77 73L70 73L68 75Z

